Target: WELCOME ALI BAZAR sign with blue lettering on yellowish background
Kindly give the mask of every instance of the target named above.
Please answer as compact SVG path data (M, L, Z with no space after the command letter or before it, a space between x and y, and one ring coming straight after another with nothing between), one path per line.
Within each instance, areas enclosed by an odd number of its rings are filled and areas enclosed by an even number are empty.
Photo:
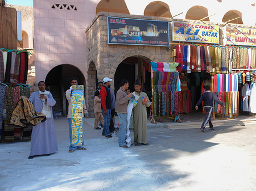
M172 22L172 41L218 44L218 37L216 25Z

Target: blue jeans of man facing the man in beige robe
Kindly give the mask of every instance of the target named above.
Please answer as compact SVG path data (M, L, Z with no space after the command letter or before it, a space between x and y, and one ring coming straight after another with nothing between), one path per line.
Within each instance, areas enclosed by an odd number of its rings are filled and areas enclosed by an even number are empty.
M118 144L119 146L125 146L125 139L127 133L127 113L117 113L119 119L119 134Z

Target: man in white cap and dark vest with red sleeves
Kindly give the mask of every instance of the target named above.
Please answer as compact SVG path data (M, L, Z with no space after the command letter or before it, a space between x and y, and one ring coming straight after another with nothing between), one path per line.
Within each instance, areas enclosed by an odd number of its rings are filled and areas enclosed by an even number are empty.
M112 79L104 78L104 86L101 88L101 111L104 117L104 127L102 131L102 135L110 138L112 135L109 133L109 125L111 120L111 93L108 88Z

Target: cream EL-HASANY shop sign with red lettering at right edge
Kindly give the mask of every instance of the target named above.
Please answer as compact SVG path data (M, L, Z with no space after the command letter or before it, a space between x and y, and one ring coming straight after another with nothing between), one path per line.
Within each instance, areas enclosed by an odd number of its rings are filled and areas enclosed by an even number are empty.
M256 45L256 28L226 27L224 31L225 44Z

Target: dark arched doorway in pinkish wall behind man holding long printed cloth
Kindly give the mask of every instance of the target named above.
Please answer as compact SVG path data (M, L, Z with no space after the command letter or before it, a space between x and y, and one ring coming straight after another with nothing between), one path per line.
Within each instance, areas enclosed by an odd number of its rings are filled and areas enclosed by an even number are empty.
M69 64L59 65L53 67L46 76L47 90L51 91L56 100L56 104L52 107L53 116L60 112L63 116L67 116L68 101L65 97L65 91L71 86L70 79L72 77L79 79L79 84L84 85L86 90L84 75L76 66Z

